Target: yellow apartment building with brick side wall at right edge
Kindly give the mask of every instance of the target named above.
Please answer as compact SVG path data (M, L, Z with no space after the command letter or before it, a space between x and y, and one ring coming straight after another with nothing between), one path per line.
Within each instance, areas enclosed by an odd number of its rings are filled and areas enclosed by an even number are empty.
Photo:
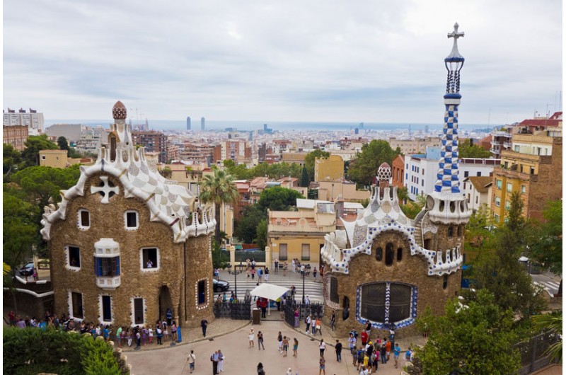
M493 170L490 209L495 225L504 222L512 192L519 192L526 218L543 219L548 200L562 198L562 137L513 134L512 151L501 154L501 166Z

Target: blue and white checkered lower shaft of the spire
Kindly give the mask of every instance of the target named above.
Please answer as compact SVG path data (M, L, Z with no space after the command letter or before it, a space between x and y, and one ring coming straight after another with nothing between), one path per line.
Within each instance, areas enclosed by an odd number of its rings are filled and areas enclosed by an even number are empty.
M437 172L437 192L460 192L458 180L458 105L446 104L442 129L440 161Z

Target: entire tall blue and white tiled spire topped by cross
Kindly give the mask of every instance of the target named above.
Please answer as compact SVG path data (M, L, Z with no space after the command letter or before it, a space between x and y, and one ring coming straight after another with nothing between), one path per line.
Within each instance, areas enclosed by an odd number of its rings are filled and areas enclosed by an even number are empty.
M458 23L454 24L454 31L448 37L454 37L452 51L444 59L448 77L446 79L446 95L444 95L444 129L442 130L439 169L436 192L460 192L458 179L458 105L460 105L460 70L464 64L463 56L458 52Z

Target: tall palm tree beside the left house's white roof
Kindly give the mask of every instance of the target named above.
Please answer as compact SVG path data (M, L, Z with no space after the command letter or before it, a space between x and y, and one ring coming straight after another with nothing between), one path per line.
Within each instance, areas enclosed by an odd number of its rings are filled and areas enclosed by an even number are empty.
M214 238L220 243L220 207L223 203L235 203L238 199L238 189L233 175L221 169L214 170L212 175L205 175L202 178L200 199L204 203L214 203L214 217L216 217Z

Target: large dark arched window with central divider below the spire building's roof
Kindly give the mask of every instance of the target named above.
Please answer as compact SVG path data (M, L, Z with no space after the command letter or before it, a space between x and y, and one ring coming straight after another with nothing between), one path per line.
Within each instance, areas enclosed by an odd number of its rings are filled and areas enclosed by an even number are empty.
M410 285L393 282L374 282L362 285L359 318L369 319L378 324L383 324L385 321L398 323L411 317L415 318L411 315L411 304L414 298ZM386 299L388 299L389 308L386 308Z

